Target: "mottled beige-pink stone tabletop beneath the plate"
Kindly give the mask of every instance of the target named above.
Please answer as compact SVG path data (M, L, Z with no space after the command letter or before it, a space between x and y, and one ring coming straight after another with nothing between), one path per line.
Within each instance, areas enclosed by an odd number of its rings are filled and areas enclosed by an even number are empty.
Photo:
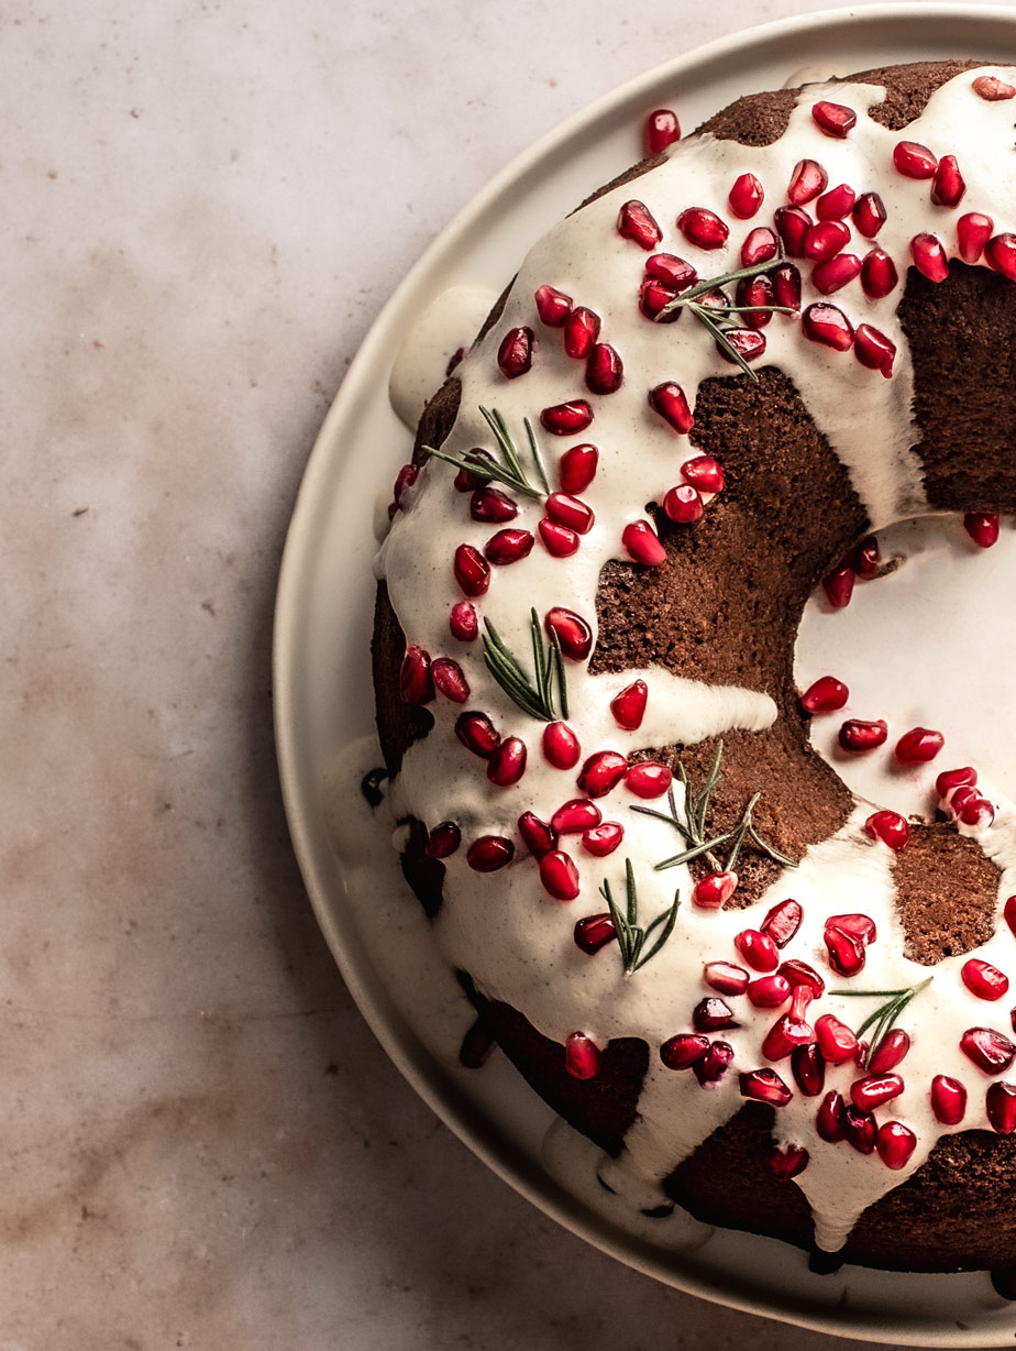
M269 669L422 249L601 92L817 8L4 8L3 1351L840 1344L601 1256L416 1100L309 912Z

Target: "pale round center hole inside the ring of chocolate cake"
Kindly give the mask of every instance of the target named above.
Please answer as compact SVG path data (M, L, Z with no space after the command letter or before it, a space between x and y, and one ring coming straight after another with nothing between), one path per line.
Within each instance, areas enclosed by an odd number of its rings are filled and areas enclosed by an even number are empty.
M835 676L846 708L816 713L812 746L861 798L931 819L935 775L974 765L985 786L1016 797L1016 528L1002 517L998 542L978 549L962 516L925 516L878 534L894 571L854 586L834 609L821 588L808 601L794 651L798 689ZM885 719L884 746L843 751L847 719ZM900 765L893 747L913 727L943 734L927 765Z

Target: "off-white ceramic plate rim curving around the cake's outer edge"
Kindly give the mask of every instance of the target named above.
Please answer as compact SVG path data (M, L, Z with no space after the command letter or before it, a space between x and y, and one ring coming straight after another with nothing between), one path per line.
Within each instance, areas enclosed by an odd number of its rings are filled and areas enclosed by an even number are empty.
M850 72L955 55L1016 62L1016 11L901 4L769 24L649 72L503 170L392 296L324 422L282 561L276 732L296 852L354 998L415 1089L503 1178L599 1248L703 1298L840 1336L985 1347L1012 1344L1016 1310L993 1294L984 1274L920 1277L844 1267L817 1277L796 1250L730 1231L717 1231L696 1248L667 1251L651 1232L626 1231L601 1205L554 1181L542 1162L550 1115L503 1058L480 1074L462 1071L454 1046L453 1055L439 1054L417 1034L413 1000L426 1002L428 996L395 979L370 932L357 924L330 842L324 792L336 751L373 731L376 546L363 504L390 485L411 449L388 384L412 317L450 286L500 290L531 240L630 163L634 128L651 108L676 107L682 124L694 127L742 93L781 86L801 68ZM395 890L399 884L386 866ZM417 923L407 919L407 942L415 942ZM422 942L426 947L426 935Z

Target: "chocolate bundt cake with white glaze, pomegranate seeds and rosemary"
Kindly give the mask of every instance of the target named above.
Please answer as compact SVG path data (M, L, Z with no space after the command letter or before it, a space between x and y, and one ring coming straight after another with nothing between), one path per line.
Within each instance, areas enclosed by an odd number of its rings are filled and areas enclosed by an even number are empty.
M496 1040L642 1210L916 1270L1016 1263L1016 811L878 711L843 753L927 808L857 797L793 644L885 527L1016 508L1015 96L969 62L747 96L596 195L428 404L380 555L465 1058Z

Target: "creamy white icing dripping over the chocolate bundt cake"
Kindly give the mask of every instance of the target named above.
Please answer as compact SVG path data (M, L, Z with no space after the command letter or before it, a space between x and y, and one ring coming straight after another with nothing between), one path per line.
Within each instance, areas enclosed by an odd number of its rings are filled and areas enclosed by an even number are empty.
M1009 70L985 69L1013 78ZM901 139L925 143L938 154L955 150L967 182L961 209L985 211L993 216L997 230L1016 224L1012 189L998 181L998 163L1012 154L1012 105L978 99L971 92L971 78L967 73L943 85L932 95L921 118L903 134L886 130L863 111L880 100L881 91L847 84L812 86L800 97L788 134L774 145L750 149L708 136L682 142L671 149L665 165L570 216L530 253L503 316L461 366L462 411L444 450L463 454L473 446L492 444L477 411L481 404L496 407L523 442L524 417L536 422L539 411L547 405L588 397L594 409L592 427L569 438L542 435L540 443L553 484L557 457L572 444L593 442L600 450L600 463L596 480L582 494L596 512L596 526L584 536L578 553L570 559L555 559L536 543L527 559L494 567L489 592L476 603L481 616L497 627L513 651L528 654L534 603L540 612L551 605L574 609L596 630L600 570L608 559L626 557L620 544L624 526L644 515L647 501L662 499L680 481L680 465L696 454L688 436L677 435L651 412L646 392L662 381L677 380L693 404L705 378L744 378L732 374L732 367L717 357L692 316L684 316L678 324L657 326L638 312L646 255L616 234L620 204L632 197L644 201L665 231L659 247L689 258L703 276L716 276L738 266L744 235L758 224L770 223L770 207L784 201L784 188L794 163L805 155L813 157L824 165L830 186L848 182L859 192L881 193L889 219L877 243L896 259L903 277L909 262L909 240L920 231L936 230L946 249L955 251L957 212L930 205L927 181L911 181L894 172L892 151ZM830 139L816 130L811 107L819 99L857 109L857 126L846 139ZM694 205L711 208L730 220L727 192L743 172L754 173L765 185L763 211L750 222L732 222L726 249L705 254L689 246L676 232L674 218L685 207ZM855 238L848 247L863 254L870 246ZM601 316L601 338L621 354L627 373L615 394L589 396L581 365L563 354L561 335L540 326L532 293L544 282ZM882 380L850 354L807 342L796 322L776 316L765 330L765 363L792 372L816 424L850 471L874 528L928 509L920 467L909 450L919 440L919 432L911 420L912 367L896 317L900 295L897 289L873 301L854 282L830 297L830 303L840 307L854 323L869 322L892 338L898 350L892 380ZM804 304L821 299L805 277ZM508 381L497 370L496 354L505 331L516 326L535 331L535 358L531 372ZM503 736L523 738L530 751L528 769L515 788L490 785L482 762L465 751L454 736L461 707L438 698L430 705L435 727L407 754L393 786L393 805L397 812L415 815L430 827L450 819L462 828L463 847L446 861L444 904L435 921L451 965L467 970L486 996L522 1009L542 1034L557 1042L584 1031L601 1047L619 1036L642 1038L649 1044L650 1071L639 1098L639 1115L608 1177L612 1185L623 1185L644 1204L647 1198L659 1197L658 1185L674 1165L739 1109L743 1098L738 1071L766 1063L761 1046L777 1013L755 1011L744 997L728 998L740 1025L719 1034L734 1047L735 1059L732 1070L715 1088L700 1088L688 1071L663 1069L657 1050L676 1032L690 1031L692 1008L709 993L701 981L703 965L716 959L743 965L734 948L734 936L758 924L770 904L794 896L804 907L805 921L782 957L804 959L827 978L827 994L816 1006L816 1015L834 1013L857 1027L880 1002L835 993L851 982L832 975L825 961L821 935L830 915L863 911L878 925L878 939L869 948L863 977L854 979L854 988L912 986L930 971L903 955L903 932L893 909L894 857L863 832L862 823L870 812L870 805L863 802L834 839L811 848L801 866L781 875L753 911L713 913L688 904L686 867L654 871L653 862L673 854L680 843L666 824L632 813L636 800L620 786L599 805L605 819L624 825L621 847L609 858L593 859L573 839L567 847L578 866L581 896L572 905L547 897L534 861L517 842L515 823L526 811L549 820L557 807L578 794L576 774L543 762L540 725L520 712L490 680L482 666L480 644L458 643L449 634L449 611L462 598L451 571L454 551L462 543L482 550L497 528L470 520L469 499L454 493L453 477L454 469L435 459L422 470L385 540L380 573L388 581L407 639L432 657L446 655L461 663L472 688L465 707L486 712ZM539 504L519 499L519 516L512 524L535 532L540 515ZM647 716L638 732L624 732L613 723L608 703L636 674L650 686ZM569 663L569 723L584 755L605 748L627 754L642 746L694 742L732 728L759 730L776 716L773 700L765 690L711 689L658 670L590 677L584 665ZM990 785L982 786L998 812L993 827L969 834L975 835L1002 869L1001 902L1016 890L1016 811L992 793ZM466 865L465 846L486 834L513 838L516 857L501 871L478 877ZM605 878L615 894L623 894L626 857L632 859L635 870L642 923L669 908L676 888L685 897L671 940L627 981L616 948L608 947L590 958L573 942L574 921L604 908L597 889ZM875 1115L880 1121L898 1120L916 1132L917 1147L905 1169L892 1171L877 1155L862 1156L848 1144L823 1143L813 1125L819 1100L794 1092L789 1105L778 1109L777 1139L803 1144L811 1155L797 1185L812 1205L821 1246L840 1246L857 1216L919 1167L939 1135L951 1129L940 1127L930 1108L928 1085L935 1074L952 1075L970 1092L967 1115L958 1129L988 1127L984 1094L989 1079L962 1055L958 1043L966 1028L1005 1025L1008 1016L998 1005L974 998L965 989L959 970L971 955L1002 969L1011 966L1012 943L1008 928L1000 924L978 952L942 962L931 973L932 985L904 1019L913 1043L900 1069L907 1088ZM789 1061L777 1063L776 1070L793 1086ZM853 1066L830 1067L825 1088L839 1089L848 1097L855 1077Z

